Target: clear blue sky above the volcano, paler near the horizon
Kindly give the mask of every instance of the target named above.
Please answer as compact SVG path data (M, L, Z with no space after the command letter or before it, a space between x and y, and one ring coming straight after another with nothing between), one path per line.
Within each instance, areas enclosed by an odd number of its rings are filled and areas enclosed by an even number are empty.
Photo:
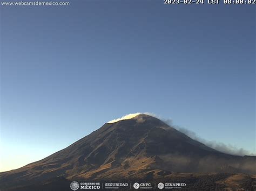
M1 12L1 166L133 112L255 153L255 8L77 1Z

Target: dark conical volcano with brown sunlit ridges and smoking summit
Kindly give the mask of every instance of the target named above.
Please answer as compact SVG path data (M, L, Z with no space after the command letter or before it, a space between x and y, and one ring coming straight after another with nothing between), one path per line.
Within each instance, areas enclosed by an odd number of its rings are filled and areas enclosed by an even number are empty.
M100 129L43 160L0 173L0 188L29 182L159 179L173 172L256 173L255 157L224 154L140 114Z

